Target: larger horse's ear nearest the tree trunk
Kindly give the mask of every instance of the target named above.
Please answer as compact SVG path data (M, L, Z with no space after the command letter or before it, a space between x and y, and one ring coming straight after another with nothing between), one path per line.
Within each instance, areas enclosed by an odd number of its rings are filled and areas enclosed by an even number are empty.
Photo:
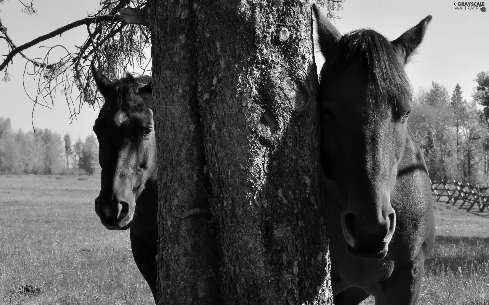
M333 56L334 44L341 38L341 34L338 29L326 19L323 13L319 11L319 7L316 3L312 4L312 10L316 17L319 49L326 61L328 61L328 59L331 59Z

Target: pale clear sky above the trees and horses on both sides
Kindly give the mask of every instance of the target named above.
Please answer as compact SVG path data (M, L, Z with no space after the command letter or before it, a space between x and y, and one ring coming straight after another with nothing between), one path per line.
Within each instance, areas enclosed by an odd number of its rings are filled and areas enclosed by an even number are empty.
M22 12L18 1L9 0L0 4L0 19L8 28L10 38L21 45L38 36L51 32L67 23L87 17L95 12L98 0L34 0L38 15L28 16ZM489 7L489 2L486 3ZM463 97L471 100L476 86L473 81L477 73L489 71L489 12L455 10L450 0L346 0L343 10L336 13L341 19L333 24L341 34L358 28L372 28L390 40L398 38L404 31L416 25L423 18L432 15L424 41L417 54L406 65L406 72L416 91L428 90L432 81L444 85L449 94L458 83ZM39 46L63 44L73 48L80 45L87 36L84 26L73 29L61 37L44 41L26 50L31 58L39 57ZM42 49L41 49L42 50ZM4 41L0 40L0 54L7 54ZM11 81L0 82L0 117L11 118L14 129L32 130L31 115L33 102L26 96L22 74L25 61L17 56L8 72ZM136 71L137 72L137 71ZM33 93L36 84L26 80L26 88ZM49 128L60 134L69 133L72 137L84 139L92 131L98 115L88 104L83 105L77 120L69 119L69 110L61 96L54 100L52 109L36 106L34 126ZM71 123L70 123L71 122Z

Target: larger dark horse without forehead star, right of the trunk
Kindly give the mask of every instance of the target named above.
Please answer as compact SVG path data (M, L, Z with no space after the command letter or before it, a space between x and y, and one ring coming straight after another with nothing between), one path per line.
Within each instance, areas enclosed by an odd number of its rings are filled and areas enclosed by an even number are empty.
M412 90L404 65L431 16L389 41L340 35L314 5L320 51L321 156L335 305L418 299L434 245L431 186L407 127Z

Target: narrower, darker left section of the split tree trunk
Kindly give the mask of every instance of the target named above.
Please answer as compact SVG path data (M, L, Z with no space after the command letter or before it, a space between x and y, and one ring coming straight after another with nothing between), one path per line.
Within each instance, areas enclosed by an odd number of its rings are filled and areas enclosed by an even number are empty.
M159 182L157 304L219 304L215 221L205 213L212 191L204 173L195 17L189 16L189 2L179 2L152 1L150 12ZM199 213L182 218L187 211Z

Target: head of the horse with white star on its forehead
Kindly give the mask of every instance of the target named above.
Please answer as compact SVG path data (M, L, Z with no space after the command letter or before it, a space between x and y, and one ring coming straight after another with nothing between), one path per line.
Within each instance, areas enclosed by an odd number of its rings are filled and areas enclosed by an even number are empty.
M91 71L105 100L93 125L102 167L95 212L106 228L127 229L137 197L156 181L151 80L127 74L110 81L93 63Z

